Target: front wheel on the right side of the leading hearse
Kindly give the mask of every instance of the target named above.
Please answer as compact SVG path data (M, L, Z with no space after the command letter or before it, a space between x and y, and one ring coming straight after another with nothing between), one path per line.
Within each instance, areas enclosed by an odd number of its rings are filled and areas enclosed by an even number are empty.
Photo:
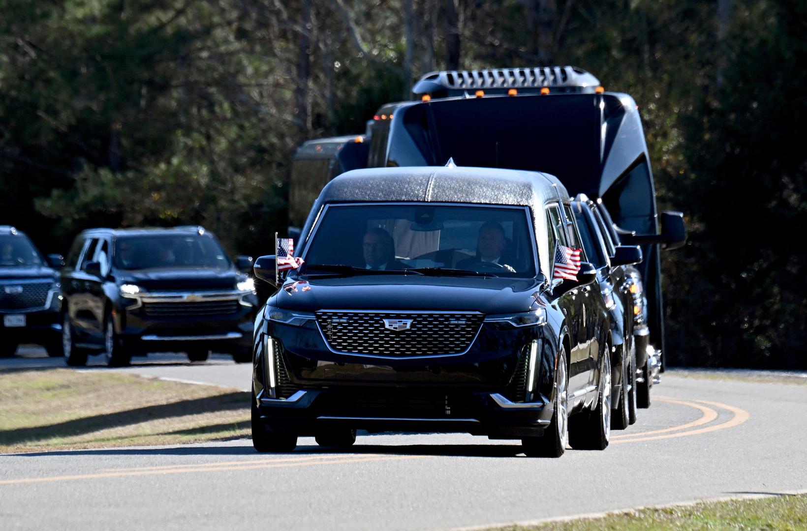
M521 449L527 457L558 458L566 451L569 439L569 371L566 364L566 347L558 352L558 370L555 371L554 413L549 427L541 437L521 439Z

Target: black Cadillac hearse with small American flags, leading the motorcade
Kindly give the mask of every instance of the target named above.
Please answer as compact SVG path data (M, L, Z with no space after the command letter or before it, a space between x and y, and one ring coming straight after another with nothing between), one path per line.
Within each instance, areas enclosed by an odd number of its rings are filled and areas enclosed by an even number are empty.
M520 438L529 455L604 449L613 338L553 176L491 168L347 172L317 199L254 334L259 451L356 429ZM556 271L557 270L557 271ZM275 257L255 273L274 283Z

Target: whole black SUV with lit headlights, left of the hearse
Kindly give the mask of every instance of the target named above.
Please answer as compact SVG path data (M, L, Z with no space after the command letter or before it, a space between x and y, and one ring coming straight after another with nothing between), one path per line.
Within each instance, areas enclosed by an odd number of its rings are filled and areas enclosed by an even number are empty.
M246 257L238 268L249 268ZM257 312L253 280L199 226L85 230L61 271L62 346L68 365L103 354L126 365L132 354L210 351L252 356Z

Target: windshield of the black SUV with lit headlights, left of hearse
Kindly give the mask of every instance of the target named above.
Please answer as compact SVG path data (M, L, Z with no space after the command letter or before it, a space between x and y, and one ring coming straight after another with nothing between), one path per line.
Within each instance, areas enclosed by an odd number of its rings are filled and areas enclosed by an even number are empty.
M114 256L118 269L230 267L219 243L206 234L121 237L115 240Z

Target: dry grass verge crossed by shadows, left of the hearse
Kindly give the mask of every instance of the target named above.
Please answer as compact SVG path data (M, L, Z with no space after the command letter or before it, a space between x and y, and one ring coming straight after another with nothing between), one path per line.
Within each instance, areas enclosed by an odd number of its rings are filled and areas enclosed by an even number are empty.
M248 434L248 392L102 371L0 373L0 454Z

